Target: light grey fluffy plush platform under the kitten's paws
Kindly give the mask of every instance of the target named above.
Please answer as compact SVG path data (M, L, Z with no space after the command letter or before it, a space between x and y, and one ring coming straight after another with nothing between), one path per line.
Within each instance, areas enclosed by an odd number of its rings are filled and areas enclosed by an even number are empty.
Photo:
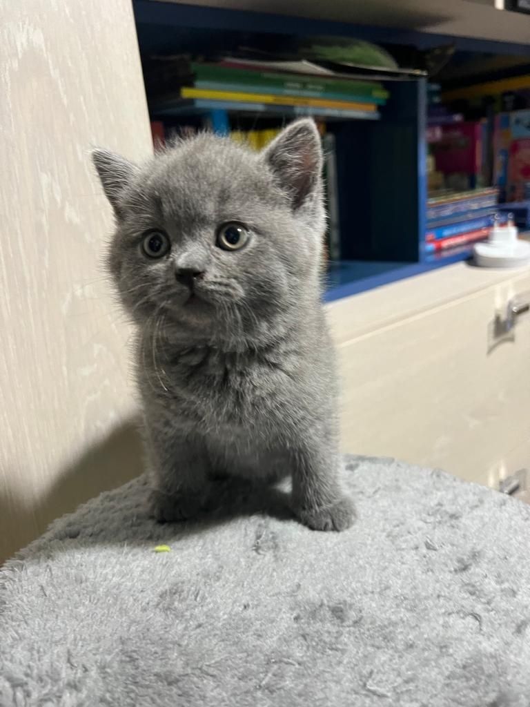
M346 485L342 534L247 486L156 525L143 479L55 522L0 573L1 707L528 706L530 507L389 460Z

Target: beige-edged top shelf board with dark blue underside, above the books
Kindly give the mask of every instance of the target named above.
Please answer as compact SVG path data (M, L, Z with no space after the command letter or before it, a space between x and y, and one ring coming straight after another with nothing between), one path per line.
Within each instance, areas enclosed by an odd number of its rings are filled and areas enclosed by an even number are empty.
M494 0L195 0L193 4L134 0L134 12L141 42L149 39L168 49L175 46L179 30L183 35L190 27L245 32L252 25L262 32L351 35L423 49L454 41L459 48L474 52L498 48L502 54L510 45L512 54L528 55L528 18L497 11ZM147 25L156 29L148 33Z

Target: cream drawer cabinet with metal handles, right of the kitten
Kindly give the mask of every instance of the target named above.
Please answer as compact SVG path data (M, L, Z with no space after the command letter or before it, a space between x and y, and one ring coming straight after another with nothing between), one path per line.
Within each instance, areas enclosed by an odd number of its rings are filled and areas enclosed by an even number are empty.
M494 322L528 291L528 270L457 264L329 305L343 450L491 486L530 463L530 315Z

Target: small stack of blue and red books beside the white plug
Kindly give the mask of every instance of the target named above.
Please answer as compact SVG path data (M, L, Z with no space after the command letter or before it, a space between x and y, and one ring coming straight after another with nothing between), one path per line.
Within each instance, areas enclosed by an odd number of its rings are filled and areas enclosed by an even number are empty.
M488 238L498 189L452 192L428 200L425 252L435 253Z

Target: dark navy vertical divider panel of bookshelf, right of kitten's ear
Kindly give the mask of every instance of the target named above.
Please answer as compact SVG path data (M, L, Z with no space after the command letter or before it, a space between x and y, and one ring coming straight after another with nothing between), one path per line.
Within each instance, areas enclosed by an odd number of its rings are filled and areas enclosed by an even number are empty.
M345 259L418 262L425 233L425 81L391 83L376 124L330 126L336 136Z

